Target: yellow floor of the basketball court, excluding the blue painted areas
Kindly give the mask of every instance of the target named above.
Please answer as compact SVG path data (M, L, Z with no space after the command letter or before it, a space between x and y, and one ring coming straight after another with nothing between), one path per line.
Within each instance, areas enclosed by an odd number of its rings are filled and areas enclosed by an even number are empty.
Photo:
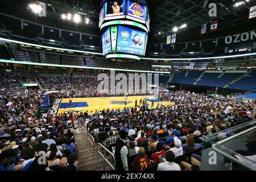
M89 107L72 107L72 108L66 108L66 112L68 111L88 111L88 113L90 113L90 111L95 112L103 110L103 109L108 109L112 110L112 109L120 109L121 111L123 110L124 107L134 107L135 106L135 100L137 99L138 101L138 105L139 105L139 100L143 100L144 98L153 98L152 96L128 96L128 102L131 102L130 104L113 104L112 101L119 101L119 102L123 102L125 101L125 97L90 97L90 98L72 98L72 103L75 102L87 102L87 104L89 105ZM148 104L151 106L151 102L147 101ZM63 98L61 100L61 104L62 103L69 103L69 98ZM174 103L171 102L167 102L167 101L163 101L163 102L154 102L154 108L156 107L156 105L159 103L159 105L174 105ZM64 112L64 109L59 109L57 114L61 114Z

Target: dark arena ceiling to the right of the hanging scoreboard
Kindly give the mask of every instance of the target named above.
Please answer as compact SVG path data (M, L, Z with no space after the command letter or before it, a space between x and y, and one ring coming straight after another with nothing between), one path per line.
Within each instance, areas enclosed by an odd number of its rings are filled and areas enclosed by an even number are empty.
M212 2L217 5L217 17L210 17L208 14L210 10L208 6ZM187 27L176 32L177 39L181 41L207 39L256 28L255 18L248 20L249 9L256 5L256 1L250 0L236 7L234 5L237 2L240 0L152 0L150 1L152 34L166 41L166 36L174 34L172 28L184 23ZM218 20L218 31L209 33L207 30L207 34L202 36L201 25L208 23L209 28L210 22L214 20Z

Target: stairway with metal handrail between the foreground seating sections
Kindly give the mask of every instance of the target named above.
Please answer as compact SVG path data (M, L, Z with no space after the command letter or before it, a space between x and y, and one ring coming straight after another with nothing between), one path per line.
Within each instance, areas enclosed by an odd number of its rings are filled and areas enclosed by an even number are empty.
M94 144L94 150L92 144L82 137L82 133L79 131L75 133L75 140L77 143L77 150L79 154L79 169L80 171L104 171L105 160L99 155L97 165L97 151L98 144ZM91 147L91 148L90 148ZM99 149L101 151L101 148ZM94 153L94 157L93 157ZM106 159L111 161L110 155L106 156ZM105 171L112 171L112 168L105 162Z

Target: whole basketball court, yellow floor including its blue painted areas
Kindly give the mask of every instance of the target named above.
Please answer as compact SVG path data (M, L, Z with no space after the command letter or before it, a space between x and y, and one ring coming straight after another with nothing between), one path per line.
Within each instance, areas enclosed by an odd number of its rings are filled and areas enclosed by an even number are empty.
M63 98L61 100L61 104L57 114L64 113L64 109L66 112L70 111L79 111L84 112L90 111L95 112L103 110L103 109L120 109L123 110L124 107L134 107L135 100L137 100L139 105L139 100L143 100L144 98L147 100L148 104L151 106L152 101L154 100L154 108L158 105L174 105L174 103L158 100L152 96L130 96L127 97L127 105L125 105L125 97L91 97L91 98L72 98L72 104L69 104L69 98Z

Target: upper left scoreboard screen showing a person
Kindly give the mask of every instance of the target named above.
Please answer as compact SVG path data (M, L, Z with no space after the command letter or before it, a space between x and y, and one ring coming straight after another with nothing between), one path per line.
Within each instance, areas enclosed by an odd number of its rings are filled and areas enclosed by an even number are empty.
M105 3L105 20L125 18L126 0L114 0Z

